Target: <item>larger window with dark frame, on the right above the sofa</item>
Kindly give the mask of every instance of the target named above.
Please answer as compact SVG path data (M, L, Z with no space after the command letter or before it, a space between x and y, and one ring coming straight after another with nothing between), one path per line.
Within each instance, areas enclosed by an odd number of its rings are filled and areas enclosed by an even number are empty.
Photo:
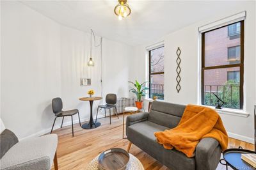
M202 33L202 104L243 109L244 22ZM236 38L230 36L236 35Z

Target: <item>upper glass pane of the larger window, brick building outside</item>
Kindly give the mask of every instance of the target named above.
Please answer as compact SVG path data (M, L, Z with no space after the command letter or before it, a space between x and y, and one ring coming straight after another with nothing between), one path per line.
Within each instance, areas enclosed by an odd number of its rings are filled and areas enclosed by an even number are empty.
M239 23L239 24L238 24ZM205 33L205 66L240 63L240 22ZM228 34L236 36L228 36Z

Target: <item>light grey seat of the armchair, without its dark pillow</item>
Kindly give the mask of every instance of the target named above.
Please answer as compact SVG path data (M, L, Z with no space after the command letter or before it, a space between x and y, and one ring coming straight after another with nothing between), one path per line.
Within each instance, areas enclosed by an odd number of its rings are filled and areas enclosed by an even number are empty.
M1 158L1 169L51 169L57 144L56 134L24 139Z

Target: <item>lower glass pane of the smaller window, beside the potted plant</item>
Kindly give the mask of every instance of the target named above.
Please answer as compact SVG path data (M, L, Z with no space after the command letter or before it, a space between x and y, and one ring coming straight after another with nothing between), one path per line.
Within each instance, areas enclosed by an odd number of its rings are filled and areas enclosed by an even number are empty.
M164 74L150 75L150 98L154 96L158 99L164 99Z

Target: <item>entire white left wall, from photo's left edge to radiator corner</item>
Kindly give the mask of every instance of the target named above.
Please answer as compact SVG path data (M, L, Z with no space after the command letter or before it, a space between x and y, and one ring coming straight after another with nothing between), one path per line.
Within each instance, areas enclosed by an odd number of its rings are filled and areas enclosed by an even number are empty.
M99 43L99 37L96 40ZM1 119L6 128L19 138L49 132L54 97L63 99L64 110L77 108L81 119L88 120L89 102L78 99L87 96L88 89L101 95L100 48L93 48L91 68L86 65L89 52L90 34L61 26L17 1L1 1ZM103 38L103 98L107 93L128 96L127 63L132 56L129 45ZM92 86L79 86L81 77L91 77ZM97 104L101 102L94 108ZM56 123L60 127L61 119ZM64 124L70 124L70 118Z

